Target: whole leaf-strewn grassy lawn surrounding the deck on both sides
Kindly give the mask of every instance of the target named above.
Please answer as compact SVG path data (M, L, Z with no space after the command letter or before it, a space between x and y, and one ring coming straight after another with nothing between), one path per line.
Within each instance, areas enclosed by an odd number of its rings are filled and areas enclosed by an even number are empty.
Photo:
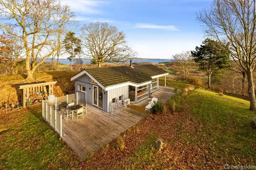
M183 89L187 84L168 80ZM181 112L150 115L80 160L41 118L41 107L0 113L0 169L223 169L224 164L255 165L256 127L249 102L196 89ZM152 142L161 138L163 150Z

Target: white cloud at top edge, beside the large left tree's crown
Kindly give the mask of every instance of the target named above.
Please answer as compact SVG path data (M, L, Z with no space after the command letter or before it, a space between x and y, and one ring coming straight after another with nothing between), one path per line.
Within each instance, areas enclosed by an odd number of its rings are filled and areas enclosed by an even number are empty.
M68 4L71 10L81 14L100 14L101 12L97 7L106 4L106 2L99 0L60 0L60 3Z

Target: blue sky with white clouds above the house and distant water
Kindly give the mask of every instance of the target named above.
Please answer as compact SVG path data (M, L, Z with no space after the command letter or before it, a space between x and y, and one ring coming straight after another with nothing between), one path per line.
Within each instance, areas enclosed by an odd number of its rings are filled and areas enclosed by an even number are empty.
M61 0L80 24L108 22L140 58L171 59L206 38L196 13L212 0Z

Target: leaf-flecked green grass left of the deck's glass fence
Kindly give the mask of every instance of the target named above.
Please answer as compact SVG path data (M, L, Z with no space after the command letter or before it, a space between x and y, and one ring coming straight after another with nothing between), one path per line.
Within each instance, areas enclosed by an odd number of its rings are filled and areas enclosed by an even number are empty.
M41 114L41 107L33 107L8 121L6 132L0 134L0 169L72 167L68 164L77 157L42 120Z

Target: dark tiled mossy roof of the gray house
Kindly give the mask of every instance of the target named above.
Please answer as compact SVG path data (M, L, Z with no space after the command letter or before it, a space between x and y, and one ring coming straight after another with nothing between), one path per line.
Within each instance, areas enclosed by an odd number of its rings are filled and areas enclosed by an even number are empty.
M155 65L134 65L133 67L100 67L86 69L86 71L105 87L126 82L140 84L150 81L153 76L168 73Z

